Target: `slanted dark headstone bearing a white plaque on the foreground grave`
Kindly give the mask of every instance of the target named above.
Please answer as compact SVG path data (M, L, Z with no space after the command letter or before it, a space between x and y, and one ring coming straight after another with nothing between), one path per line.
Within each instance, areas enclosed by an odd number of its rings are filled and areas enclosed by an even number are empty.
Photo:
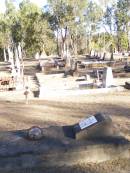
M117 135L112 120L101 113L90 116L74 125L76 139L98 139Z

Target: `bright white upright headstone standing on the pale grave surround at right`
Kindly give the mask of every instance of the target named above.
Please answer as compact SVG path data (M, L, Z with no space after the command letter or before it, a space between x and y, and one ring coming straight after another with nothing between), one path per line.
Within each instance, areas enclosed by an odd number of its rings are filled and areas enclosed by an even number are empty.
M114 83L114 80L113 80L112 68L111 67L104 68L103 87L104 88L111 87L113 86L113 83Z

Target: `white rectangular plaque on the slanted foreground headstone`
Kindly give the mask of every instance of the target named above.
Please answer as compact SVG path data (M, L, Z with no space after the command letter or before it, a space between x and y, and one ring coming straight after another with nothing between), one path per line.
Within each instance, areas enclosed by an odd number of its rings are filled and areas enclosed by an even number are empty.
M91 116L90 118L80 121L79 126L81 129L85 129L86 127L89 127L97 122L98 121L95 116Z

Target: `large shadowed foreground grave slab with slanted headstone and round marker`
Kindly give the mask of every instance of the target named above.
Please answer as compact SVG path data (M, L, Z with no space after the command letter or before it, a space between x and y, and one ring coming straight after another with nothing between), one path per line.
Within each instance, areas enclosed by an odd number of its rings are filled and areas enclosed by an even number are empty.
M109 118L98 113L70 126L0 132L0 172L130 158L130 143L125 138L115 135L104 140L108 131L103 138L94 137L99 129L100 132L105 129L106 124L107 129L110 128L109 123L112 123ZM77 140L77 134L82 131L86 137Z

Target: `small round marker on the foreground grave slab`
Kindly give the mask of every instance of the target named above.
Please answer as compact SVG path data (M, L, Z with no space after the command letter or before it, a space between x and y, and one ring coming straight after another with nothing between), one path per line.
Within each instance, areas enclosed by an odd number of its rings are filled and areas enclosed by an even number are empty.
M37 126L33 126L28 130L28 138L31 140L39 140L42 138L42 129Z

